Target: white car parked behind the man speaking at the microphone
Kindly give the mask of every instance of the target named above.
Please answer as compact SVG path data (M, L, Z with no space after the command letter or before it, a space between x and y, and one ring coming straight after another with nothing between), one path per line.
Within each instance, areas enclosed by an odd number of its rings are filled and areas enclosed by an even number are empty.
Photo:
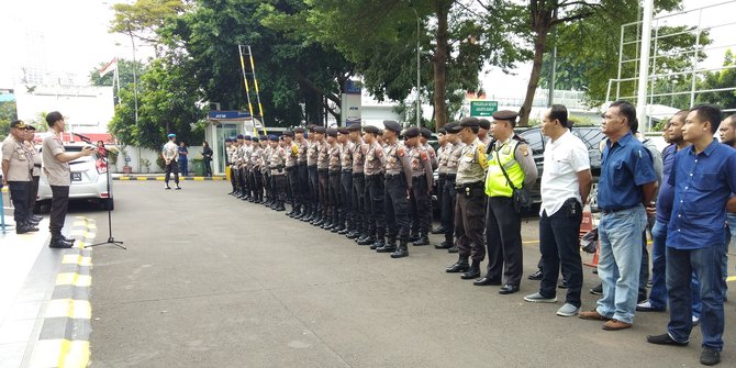
M65 144L64 148L68 153L81 152L86 144ZM41 150L41 147L38 147ZM97 154L82 156L69 161L71 170L71 186L69 187L69 200L97 201L104 210L114 210L114 200L112 198L112 181L110 181L110 192L108 192L108 165L102 157ZM38 181L38 196L34 212L46 212L52 199L52 189L48 186L48 178L44 170L41 170Z

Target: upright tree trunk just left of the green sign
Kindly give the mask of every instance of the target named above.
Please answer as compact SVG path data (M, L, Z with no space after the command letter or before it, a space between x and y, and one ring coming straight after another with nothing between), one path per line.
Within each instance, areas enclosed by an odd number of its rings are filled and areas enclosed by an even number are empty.
M447 102L445 92L447 88L447 14L450 5L445 0L435 0L434 11L437 15L437 46L433 58L434 67L434 116L435 129L438 130L447 124Z

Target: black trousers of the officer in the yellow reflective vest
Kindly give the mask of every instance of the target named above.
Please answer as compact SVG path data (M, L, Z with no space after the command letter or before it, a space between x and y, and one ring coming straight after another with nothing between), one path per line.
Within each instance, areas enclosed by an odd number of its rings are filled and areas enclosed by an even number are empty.
M486 216L486 244L488 246L488 274L493 280L518 286L522 281L522 215L514 209L511 197L488 199ZM544 272L544 267L543 267Z

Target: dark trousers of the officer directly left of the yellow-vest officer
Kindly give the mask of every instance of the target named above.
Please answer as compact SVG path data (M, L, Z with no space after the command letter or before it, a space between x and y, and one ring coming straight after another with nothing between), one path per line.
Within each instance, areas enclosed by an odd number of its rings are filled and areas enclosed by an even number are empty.
M455 204L455 245L460 257L475 261L486 258L483 244L483 219L486 216L486 192L481 183L457 191Z

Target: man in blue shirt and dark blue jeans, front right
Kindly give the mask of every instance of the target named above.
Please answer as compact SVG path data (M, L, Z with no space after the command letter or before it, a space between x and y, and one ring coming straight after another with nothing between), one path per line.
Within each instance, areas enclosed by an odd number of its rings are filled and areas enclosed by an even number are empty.
M726 209L736 211L736 150L713 140L721 110L714 105L693 108L682 127L692 146L674 156L669 182L674 186L672 215L667 228L667 292L670 322L667 333L647 336L658 345L688 345L692 294L690 275L701 283L701 332L703 349L700 363L721 361L723 348L723 253Z

